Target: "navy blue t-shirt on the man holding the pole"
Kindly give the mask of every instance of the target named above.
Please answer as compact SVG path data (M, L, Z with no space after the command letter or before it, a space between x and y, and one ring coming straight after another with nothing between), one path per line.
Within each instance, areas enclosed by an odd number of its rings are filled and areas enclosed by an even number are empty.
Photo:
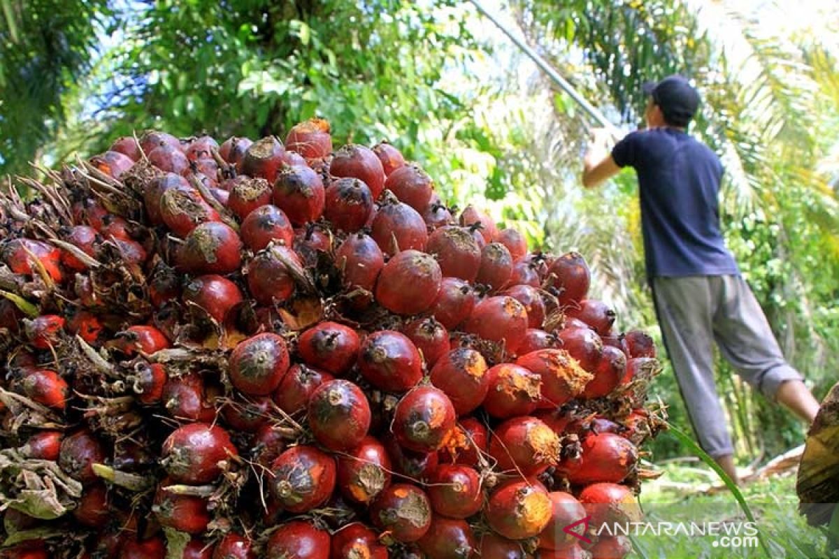
M720 230L722 163L704 143L673 128L632 132L612 148L638 172L647 276L738 274Z

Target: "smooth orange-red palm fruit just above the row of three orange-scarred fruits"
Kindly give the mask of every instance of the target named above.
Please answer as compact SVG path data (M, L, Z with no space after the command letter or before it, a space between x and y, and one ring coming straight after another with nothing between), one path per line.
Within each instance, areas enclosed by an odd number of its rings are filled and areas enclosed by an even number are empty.
M465 326L470 334L504 344L504 351L508 354L516 353L527 329L524 305L506 296L491 297L477 303Z

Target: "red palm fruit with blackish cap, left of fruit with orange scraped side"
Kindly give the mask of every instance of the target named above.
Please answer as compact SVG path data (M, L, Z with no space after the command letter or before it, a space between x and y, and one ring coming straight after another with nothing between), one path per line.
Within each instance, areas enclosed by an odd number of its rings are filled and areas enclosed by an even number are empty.
M332 451L356 448L370 429L367 396L349 380L330 380L309 398L309 427L318 443Z

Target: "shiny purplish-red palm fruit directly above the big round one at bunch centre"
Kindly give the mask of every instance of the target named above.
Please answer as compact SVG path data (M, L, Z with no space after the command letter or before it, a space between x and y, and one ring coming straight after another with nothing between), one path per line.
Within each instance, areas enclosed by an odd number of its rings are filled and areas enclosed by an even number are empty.
M373 218L372 235L387 255L409 249L424 251L428 227L414 208L385 194L384 203Z

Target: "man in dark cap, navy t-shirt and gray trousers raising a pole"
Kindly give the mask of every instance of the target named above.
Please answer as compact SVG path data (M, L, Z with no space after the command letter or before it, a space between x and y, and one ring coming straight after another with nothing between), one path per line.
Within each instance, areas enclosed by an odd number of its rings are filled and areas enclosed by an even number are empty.
M608 151L596 130L583 160L586 188L623 167L638 173L647 277L664 346L701 447L737 482L731 437L714 383L713 343L738 374L806 422L819 404L784 360L763 309L722 238L722 163L686 133L699 94L679 75L648 84L647 129Z

